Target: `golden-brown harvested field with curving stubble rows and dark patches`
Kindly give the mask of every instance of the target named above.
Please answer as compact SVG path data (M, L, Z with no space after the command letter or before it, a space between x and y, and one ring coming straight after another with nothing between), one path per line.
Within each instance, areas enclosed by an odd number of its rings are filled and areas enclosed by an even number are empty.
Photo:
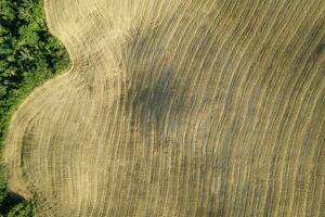
M38 216L325 215L323 0L46 0L72 68L5 142Z

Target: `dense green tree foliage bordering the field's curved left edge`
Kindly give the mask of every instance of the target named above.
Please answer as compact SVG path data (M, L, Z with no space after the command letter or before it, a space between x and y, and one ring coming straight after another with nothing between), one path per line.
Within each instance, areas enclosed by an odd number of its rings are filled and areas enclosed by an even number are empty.
M18 103L68 65L66 51L48 33L42 3L0 0L0 150ZM1 166L0 217L34 216L31 204L9 192L5 186Z

